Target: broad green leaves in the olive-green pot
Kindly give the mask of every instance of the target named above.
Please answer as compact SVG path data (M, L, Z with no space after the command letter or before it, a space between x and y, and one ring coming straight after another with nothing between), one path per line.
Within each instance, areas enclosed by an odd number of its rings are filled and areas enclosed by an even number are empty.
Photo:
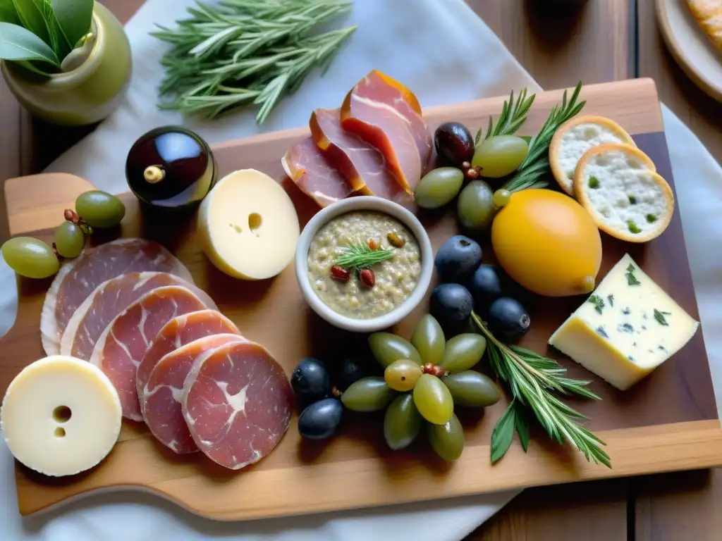
M39 74L63 61L90 36L93 0L0 0L0 59Z

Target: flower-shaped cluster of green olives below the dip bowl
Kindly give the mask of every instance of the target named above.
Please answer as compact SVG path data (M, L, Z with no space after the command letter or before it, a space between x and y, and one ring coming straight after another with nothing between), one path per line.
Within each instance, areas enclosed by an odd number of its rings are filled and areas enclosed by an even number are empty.
M464 450L464 428L453 413L454 405L485 408L500 399L492 380L471 370L484 356L487 342L468 333L450 340L438 321L425 315L411 342L391 333L369 337L382 377L365 377L341 396L349 410L386 409L383 434L391 449L403 449L426 424L432 449L445 460L456 460ZM423 421L426 421L424 423Z

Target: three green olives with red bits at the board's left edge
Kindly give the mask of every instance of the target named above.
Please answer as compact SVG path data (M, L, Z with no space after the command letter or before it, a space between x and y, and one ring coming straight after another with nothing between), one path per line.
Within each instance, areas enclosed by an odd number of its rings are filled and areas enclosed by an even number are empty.
M65 209L65 221L55 230L53 246L40 239L15 237L2 245L5 262L26 278L48 278L57 273L61 260L77 258L92 229L115 227L126 214L126 207L115 195L100 190L81 193L75 211Z

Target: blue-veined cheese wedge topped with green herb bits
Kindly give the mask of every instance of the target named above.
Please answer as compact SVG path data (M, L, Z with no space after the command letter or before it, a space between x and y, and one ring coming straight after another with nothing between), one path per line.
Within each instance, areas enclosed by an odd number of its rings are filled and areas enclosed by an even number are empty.
M625 390L677 353L698 326L627 254L549 344Z

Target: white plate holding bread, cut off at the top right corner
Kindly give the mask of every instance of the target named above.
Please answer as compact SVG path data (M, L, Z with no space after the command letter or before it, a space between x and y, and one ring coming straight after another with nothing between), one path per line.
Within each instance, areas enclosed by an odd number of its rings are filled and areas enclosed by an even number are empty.
M722 55L697 25L685 0L656 0L657 20L669 51L698 87L722 102Z

